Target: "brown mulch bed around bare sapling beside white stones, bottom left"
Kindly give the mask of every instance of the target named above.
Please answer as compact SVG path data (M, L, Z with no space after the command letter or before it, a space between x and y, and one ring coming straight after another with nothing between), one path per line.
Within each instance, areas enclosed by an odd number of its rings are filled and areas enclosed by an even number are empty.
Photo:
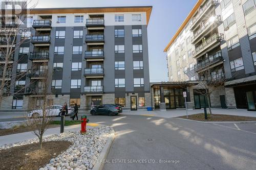
M69 141L48 141L32 143L0 151L0 169L34 170L45 166L49 161L66 151L72 143Z

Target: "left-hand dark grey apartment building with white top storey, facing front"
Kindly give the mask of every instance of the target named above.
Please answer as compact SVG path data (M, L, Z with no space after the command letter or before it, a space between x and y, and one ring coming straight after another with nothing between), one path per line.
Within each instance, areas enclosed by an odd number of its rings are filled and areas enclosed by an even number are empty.
M29 109L41 95L45 68L50 72L49 101L81 109L118 104L126 109L151 106L147 25L152 7L31 9L23 43L15 51L15 82L1 109ZM11 79L15 79L14 77Z

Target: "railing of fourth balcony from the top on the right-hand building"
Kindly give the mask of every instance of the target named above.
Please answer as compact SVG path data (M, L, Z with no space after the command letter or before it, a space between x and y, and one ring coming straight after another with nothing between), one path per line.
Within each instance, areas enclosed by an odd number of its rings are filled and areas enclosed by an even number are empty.
M215 55L209 56L206 60L196 64L194 66L194 70L197 71L201 68L209 66L210 64L214 64L214 63L217 63L218 61L222 61L222 60L223 60L222 55L220 52L218 52Z

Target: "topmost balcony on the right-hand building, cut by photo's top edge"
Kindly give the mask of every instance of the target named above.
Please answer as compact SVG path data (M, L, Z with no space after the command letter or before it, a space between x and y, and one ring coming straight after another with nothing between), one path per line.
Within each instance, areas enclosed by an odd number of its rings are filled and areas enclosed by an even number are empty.
M193 31L195 27L199 24L204 14L207 14L209 9L211 9L212 6L216 5L218 3L218 0L208 0L205 5L199 9L198 14L193 17L192 21L189 23L190 31Z

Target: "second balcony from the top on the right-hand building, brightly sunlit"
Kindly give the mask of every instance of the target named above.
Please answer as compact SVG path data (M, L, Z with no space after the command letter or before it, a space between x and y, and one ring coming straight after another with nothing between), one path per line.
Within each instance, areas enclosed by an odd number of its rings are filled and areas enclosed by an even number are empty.
M199 30L197 30L194 35L191 37L191 44L195 44L203 35L208 34L213 29L215 29L218 23L221 22L221 16L216 15L210 17Z

